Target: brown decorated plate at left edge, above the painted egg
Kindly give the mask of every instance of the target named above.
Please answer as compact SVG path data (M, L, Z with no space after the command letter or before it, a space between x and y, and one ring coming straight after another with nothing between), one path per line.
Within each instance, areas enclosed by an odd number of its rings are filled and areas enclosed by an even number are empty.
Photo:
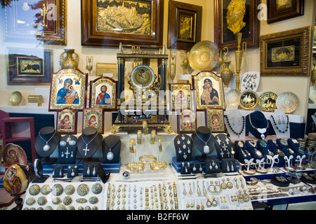
M10 167L13 164L25 165L27 163L25 151L20 146L12 143L6 144L2 157L5 167Z

